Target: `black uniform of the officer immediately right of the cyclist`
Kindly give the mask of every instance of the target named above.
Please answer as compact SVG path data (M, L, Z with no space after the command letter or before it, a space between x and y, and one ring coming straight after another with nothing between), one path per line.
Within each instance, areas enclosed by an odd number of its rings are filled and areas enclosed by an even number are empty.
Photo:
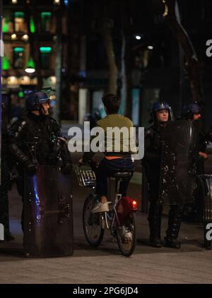
M143 166L146 169L146 176L149 184L150 208L148 213L148 222L150 227L151 242L160 239L162 205L158 203L160 186L160 162L162 140L161 135L164 124L154 124L146 130L145 136L145 155ZM182 205L170 205L169 222L167 228L166 240L177 239L181 225Z

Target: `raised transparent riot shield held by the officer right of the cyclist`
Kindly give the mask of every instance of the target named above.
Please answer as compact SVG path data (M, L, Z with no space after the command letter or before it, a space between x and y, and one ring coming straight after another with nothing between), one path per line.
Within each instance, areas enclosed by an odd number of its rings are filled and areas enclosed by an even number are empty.
M199 124L170 122L163 129L159 202L191 203L196 188L196 156Z

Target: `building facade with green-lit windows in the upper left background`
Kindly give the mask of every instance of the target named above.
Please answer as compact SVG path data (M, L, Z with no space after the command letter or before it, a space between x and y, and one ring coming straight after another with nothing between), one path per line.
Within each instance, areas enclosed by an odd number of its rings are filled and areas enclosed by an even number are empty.
M24 90L52 88L66 79L69 1L4 1L2 90L11 105L24 105ZM61 88L52 95L55 105ZM56 99L57 95L57 99ZM55 100L55 101L54 101Z

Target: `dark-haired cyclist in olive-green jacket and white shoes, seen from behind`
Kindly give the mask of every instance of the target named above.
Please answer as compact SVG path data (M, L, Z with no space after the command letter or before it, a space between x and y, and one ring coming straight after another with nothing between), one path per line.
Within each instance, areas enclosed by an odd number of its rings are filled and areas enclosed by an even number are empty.
M105 132L105 158L103 158L100 162L100 165L96 172L96 191L100 196L100 203L96 204L93 208L93 213L102 213L109 211L108 201L107 201L107 177L112 176L115 172L133 172L134 171L134 162L131 160L131 154L136 153L136 149L130 150L129 148L129 138L126 140L126 136L124 133L120 133L119 138L119 152L114 150L114 143L117 141L114 138L114 133L110 134L112 138L110 138L108 129L114 129L114 127L118 127L119 129L126 128L128 131L131 127L133 127L132 121L124 117L122 114L118 114L120 100L117 95L107 94L102 97L102 102L105 107L105 112L107 116L103 119L100 119L97 122L97 126L101 127ZM130 136L130 133L129 133ZM126 152L126 143L128 144L128 150ZM123 150L124 149L124 150ZM84 153L83 158L79 160L80 164L85 164L89 162L93 155L92 151L89 153ZM124 179L120 184L120 193L122 195L126 195L126 189L129 184L129 179Z

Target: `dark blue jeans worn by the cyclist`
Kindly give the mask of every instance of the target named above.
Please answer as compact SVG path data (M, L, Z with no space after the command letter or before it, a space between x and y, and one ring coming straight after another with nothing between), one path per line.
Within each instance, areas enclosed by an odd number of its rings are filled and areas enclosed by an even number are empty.
M99 196L107 196L107 177L117 172L133 172L134 162L131 158L117 158L107 160L104 158L96 172L96 193ZM119 193L126 196L126 190L131 178L124 179L120 183Z

